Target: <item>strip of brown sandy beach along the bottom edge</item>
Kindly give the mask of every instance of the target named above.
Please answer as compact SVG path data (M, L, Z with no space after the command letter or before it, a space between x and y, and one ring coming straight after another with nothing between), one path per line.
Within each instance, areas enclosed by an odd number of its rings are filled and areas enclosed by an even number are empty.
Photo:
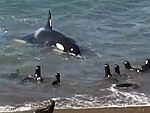
M105 107L88 109L55 109L53 113L149 113L150 106ZM34 110L2 113L33 113Z

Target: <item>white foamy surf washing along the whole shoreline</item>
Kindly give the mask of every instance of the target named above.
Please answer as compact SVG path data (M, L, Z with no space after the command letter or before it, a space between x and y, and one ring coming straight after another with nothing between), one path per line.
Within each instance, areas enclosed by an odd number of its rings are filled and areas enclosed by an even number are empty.
M108 88L112 91L113 94L103 97L93 97L88 94L75 94L73 97L58 97L52 98L51 100L56 101L55 109L90 109L90 108L108 108L108 107L140 107L140 106L150 106L149 96L143 93L127 93L120 92L114 88ZM120 98L120 94L123 95ZM128 98L131 97L131 98ZM119 101L125 101L123 104L120 104ZM127 101L126 101L127 100ZM129 101L136 100L137 102L128 103ZM143 101L142 101L143 100ZM144 101L147 101L145 103ZM28 111L37 109L39 107L44 107L49 105L50 100L42 102L29 102L25 103L22 106L13 107L13 106L1 106L1 112L16 112L16 111Z

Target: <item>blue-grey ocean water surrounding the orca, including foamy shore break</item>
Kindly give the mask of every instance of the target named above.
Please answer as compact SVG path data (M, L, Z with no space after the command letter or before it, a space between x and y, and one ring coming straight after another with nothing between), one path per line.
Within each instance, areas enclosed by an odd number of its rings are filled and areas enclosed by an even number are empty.
M15 41L45 26L48 10L53 28L73 38L81 48L76 58L51 48ZM141 66L150 58L149 0L0 0L0 110L46 106L89 108L150 104L149 73L127 72L123 61ZM136 89L116 89L104 80L104 64L119 64ZM20 83L41 65L46 82ZM18 78L10 73L20 70ZM55 74L61 84L53 87Z

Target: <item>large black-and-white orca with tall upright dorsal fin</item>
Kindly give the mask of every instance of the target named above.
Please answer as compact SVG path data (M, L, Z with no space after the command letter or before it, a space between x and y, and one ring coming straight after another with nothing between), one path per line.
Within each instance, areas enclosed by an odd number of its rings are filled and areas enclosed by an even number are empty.
M44 28L39 28L35 32L22 37L27 43L38 44L40 46L55 47L71 55L80 55L80 49L76 42L64 34L52 29L51 12Z

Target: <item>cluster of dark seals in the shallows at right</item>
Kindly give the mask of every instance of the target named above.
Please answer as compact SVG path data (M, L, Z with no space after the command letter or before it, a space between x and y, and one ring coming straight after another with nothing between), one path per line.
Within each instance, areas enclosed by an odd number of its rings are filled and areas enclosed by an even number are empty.
M133 66L131 66L129 61L124 61L123 64L124 64L125 69L128 71L144 73L150 70L150 59L146 59L145 64L142 65L140 68L134 68ZM138 87L138 85L135 83L126 83L126 82L119 83L122 80L128 79L128 76L120 73L119 65L115 64L114 68L115 68L115 73L111 74L109 65L105 64L105 79L106 80L111 81L113 83L118 83L116 84L116 87L119 87L119 88L123 88L123 87L124 88L129 88L129 87L137 88Z

